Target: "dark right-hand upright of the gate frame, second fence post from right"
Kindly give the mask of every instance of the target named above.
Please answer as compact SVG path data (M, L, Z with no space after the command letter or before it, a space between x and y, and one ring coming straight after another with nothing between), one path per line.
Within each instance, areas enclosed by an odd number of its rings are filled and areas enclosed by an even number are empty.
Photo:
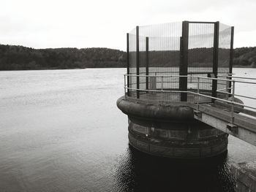
M218 75L218 59L219 58L219 21L214 23L214 57L213 57L213 73L214 78ZM211 96L217 97L217 80L212 80ZM211 99L212 102L215 99Z

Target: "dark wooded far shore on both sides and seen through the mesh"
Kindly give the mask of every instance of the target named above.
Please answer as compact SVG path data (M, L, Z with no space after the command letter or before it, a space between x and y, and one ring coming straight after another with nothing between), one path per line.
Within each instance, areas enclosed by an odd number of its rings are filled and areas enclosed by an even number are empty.
M197 48L192 53L199 55L193 66L207 64L211 48ZM229 50L219 49L220 55L227 58ZM0 71L8 70L42 70L42 69L86 69L86 68L124 68L126 67L126 52L109 48L48 48L34 49L18 45L0 45ZM170 55L178 57L178 51L152 51L156 64L170 64ZM168 56L169 55L169 56ZM142 53L143 57L143 53ZM156 60L157 58L157 60ZM198 58L200 58L198 60ZM169 59L169 60L168 60ZM222 58L220 58L222 60ZM199 62L199 63L198 63ZM227 66L222 60L220 65ZM153 63L154 65L154 63ZM178 66L177 64L174 64ZM256 68L256 47L241 47L234 49L233 67Z

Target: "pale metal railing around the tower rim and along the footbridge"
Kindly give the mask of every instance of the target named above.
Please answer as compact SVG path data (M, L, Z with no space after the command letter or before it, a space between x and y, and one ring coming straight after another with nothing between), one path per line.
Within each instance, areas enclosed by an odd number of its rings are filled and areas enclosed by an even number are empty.
M190 93L192 95L195 95L195 96L201 96L201 97L205 97L205 98L208 98L208 99L214 99L217 100L217 101L222 101L222 102L225 102L226 104L229 105L229 107L231 108L230 110L230 123L233 123L233 120L234 120L234 112L235 112L235 108L237 109L238 107L240 107L240 112L243 112L244 114L246 115L251 115L255 118L256 116L256 104L250 104L250 105L246 105L246 104L242 104L238 101L235 101L235 96L238 96L238 97L241 97L241 98L246 98L246 99L251 99L251 100L255 100L256 97L253 97L253 96L244 96L244 95L241 95L241 94L236 94L236 84L237 83L243 83L243 84L246 84L246 85L256 85L256 82L249 82L249 81L245 81L245 80L255 80L256 81L256 78L249 78L249 77L236 77L236 76L231 76L232 74L222 74L222 75L219 75L217 78L214 78L214 77L199 77L199 76L192 76L192 75L157 75L157 74L154 74L154 75L146 75L146 74L140 74L140 75L137 75L137 74L124 74L124 96L127 97L127 91L137 91L137 92L140 92L140 91L143 91L143 92L146 92L146 93L162 93L162 96L161 96L161 99L158 99L158 101L164 101L164 97L163 97L163 94L165 93ZM160 78L161 81L160 81L160 88L155 88L155 89L146 89L146 88L131 88L129 86L127 86L127 78L129 77L155 77L155 78ZM193 83L195 83L196 85L196 88L192 91L191 89L188 90L188 91L180 91L178 90L177 88L176 89L172 89L172 87L168 87L167 88L164 88L164 82L167 82L166 80L164 80L166 77L168 78L182 78L182 77L189 77L189 78L192 78L194 79ZM239 80L236 80L236 79L233 79L233 78L237 78ZM206 83L204 82L203 80L217 80L217 81L222 81L222 82L225 82L225 88L222 88L222 89L219 89L217 90L217 93L221 93L222 94L222 97L218 97L218 96L209 96L207 95L206 93L200 93L200 91L202 91L203 89L201 88L200 89L200 85L202 85L203 83ZM157 83L157 82L156 82ZM222 83L223 85L224 83ZM171 85L171 84L170 84ZM223 97L223 95L225 95L225 97ZM165 100L167 101L167 100ZM169 100L170 101L170 100ZM194 101L194 103L197 105L197 110L199 110L199 106L200 106L200 101L197 97L197 101ZM247 110L246 108L248 108L249 110Z

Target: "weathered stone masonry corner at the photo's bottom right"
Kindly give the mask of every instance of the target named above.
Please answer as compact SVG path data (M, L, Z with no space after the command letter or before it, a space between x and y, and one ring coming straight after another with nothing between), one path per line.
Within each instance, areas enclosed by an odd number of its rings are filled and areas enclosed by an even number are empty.
M237 192L256 191L256 161L233 164L231 172L237 179Z

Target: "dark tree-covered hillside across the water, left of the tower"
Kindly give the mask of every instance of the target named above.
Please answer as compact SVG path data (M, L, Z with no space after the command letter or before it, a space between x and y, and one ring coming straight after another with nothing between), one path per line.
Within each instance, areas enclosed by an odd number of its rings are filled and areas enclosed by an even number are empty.
M124 67L125 53L108 48L33 49L0 45L0 70Z

